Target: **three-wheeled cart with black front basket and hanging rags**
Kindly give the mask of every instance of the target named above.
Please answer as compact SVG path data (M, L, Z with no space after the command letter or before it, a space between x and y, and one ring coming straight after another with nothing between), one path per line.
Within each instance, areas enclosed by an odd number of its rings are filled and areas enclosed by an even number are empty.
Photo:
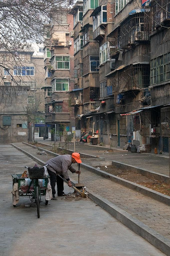
M41 196L46 195L47 184L49 182L49 175L44 176L44 166L43 167L26 167L28 168L29 176L22 178L22 174L11 174L13 186L17 185L18 195L27 196L30 198L31 202L35 202L37 206L37 215L40 218L40 202ZM18 183L18 184L16 184ZM13 206L14 194L12 194ZM48 204L48 200L45 200L45 204Z

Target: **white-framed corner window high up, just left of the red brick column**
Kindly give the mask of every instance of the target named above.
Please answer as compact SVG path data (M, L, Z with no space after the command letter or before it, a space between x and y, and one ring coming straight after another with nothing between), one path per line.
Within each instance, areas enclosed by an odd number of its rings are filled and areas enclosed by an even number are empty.
M100 12L93 17L93 31L96 30L101 24L107 23L107 6L102 5Z

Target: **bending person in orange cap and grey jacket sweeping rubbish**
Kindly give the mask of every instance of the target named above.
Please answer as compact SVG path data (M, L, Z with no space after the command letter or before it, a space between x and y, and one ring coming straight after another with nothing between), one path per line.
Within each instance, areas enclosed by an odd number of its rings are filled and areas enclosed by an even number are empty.
M48 164L47 170L50 175L50 183L52 188L52 199L55 200L55 185L57 183L57 194L58 196L66 196L64 193L64 180L62 180L57 174L59 174L62 178L68 181L68 186L71 187L72 183L70 181L68 170L72 173L80 174L81 172L72 167L72 164L79 163L81 164L80 154L72 153L72 155L61 155L51 158L46 162Z

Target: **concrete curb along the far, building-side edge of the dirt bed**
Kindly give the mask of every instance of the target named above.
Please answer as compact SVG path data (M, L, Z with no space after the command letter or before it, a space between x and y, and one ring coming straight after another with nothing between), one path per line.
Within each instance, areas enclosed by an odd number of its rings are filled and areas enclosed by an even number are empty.
M118 162L118 161L112 161L112 165L120 169L125 169L125 170L133 171L136 173L140 173L140 174L143 174L144 176L147 176L148 178L154 178L156 180L159 180L160 182L169 184L169 177L167 175L148 171L144 168L135 167L129 164L123 164L122 162Z

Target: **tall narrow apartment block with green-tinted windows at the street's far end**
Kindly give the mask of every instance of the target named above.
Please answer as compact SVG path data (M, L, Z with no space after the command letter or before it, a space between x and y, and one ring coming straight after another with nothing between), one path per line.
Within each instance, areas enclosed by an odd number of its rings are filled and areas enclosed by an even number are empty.
M75 125L74 108L68 94L74 89L73 16L63 10L50 20L45 30L43 88L46 125L53 130L52 140L60 140L59 135L64 131L71 134Z

